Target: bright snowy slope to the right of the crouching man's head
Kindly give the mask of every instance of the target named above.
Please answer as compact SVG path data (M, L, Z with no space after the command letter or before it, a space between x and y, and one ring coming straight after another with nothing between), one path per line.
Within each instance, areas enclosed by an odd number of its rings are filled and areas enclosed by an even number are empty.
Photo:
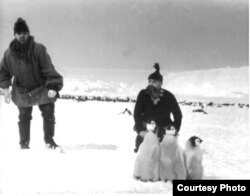
M243 98L249 94L249 67L172 73L165 82L176 94Z

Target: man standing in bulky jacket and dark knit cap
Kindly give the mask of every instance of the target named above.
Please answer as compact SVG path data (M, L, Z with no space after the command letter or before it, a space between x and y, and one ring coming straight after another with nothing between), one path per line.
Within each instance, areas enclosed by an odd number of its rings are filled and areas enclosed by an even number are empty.
M45 144L54 149L58 147L53 139L54 103L63 87L63 78L55 70L46 48L34 41L22 18L14 24L14 36L0 64L0 88L4 89L5 102L10 103L12 98L18 107L20 147L29 149L32 106L38 105L43 117Z

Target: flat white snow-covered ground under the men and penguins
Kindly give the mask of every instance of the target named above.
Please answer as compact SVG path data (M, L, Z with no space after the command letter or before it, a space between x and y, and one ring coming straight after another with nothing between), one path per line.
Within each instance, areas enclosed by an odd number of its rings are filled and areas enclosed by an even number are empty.
M0 194L83 195L153 193L172 195L170 182L140 182L132 177L136 154L134 103L56 104L57 143L64 152L44 148L42 118L33 110L30 150L19 150L17 108L0 96ZM192 135L203 140L206 179L249 179L249 109L205 108L208 115L182 106L181 146Z

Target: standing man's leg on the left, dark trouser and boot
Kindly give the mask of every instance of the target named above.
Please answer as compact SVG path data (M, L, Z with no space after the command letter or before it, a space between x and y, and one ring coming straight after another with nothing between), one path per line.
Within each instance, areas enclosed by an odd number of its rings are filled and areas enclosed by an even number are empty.
M19 110L19 135L21 149L29 149L30 142L30 121L32 119L32 107L18 107Z

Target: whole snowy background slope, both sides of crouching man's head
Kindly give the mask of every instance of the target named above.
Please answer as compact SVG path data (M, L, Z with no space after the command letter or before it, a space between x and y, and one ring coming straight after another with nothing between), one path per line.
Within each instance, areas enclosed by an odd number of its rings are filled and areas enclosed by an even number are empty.
M91 76L89 70L77 70L65 77L62 94L95 95L135 98L140 89L147 85L149 73L138 71L103 70ZM87 75L90 74L89 77ZM110 77L102 77L110 75ZM115 75L116 77L113 77ZM164 74L163 87L179 97L227 97L248 99L248 66L240 68L219 68Z

